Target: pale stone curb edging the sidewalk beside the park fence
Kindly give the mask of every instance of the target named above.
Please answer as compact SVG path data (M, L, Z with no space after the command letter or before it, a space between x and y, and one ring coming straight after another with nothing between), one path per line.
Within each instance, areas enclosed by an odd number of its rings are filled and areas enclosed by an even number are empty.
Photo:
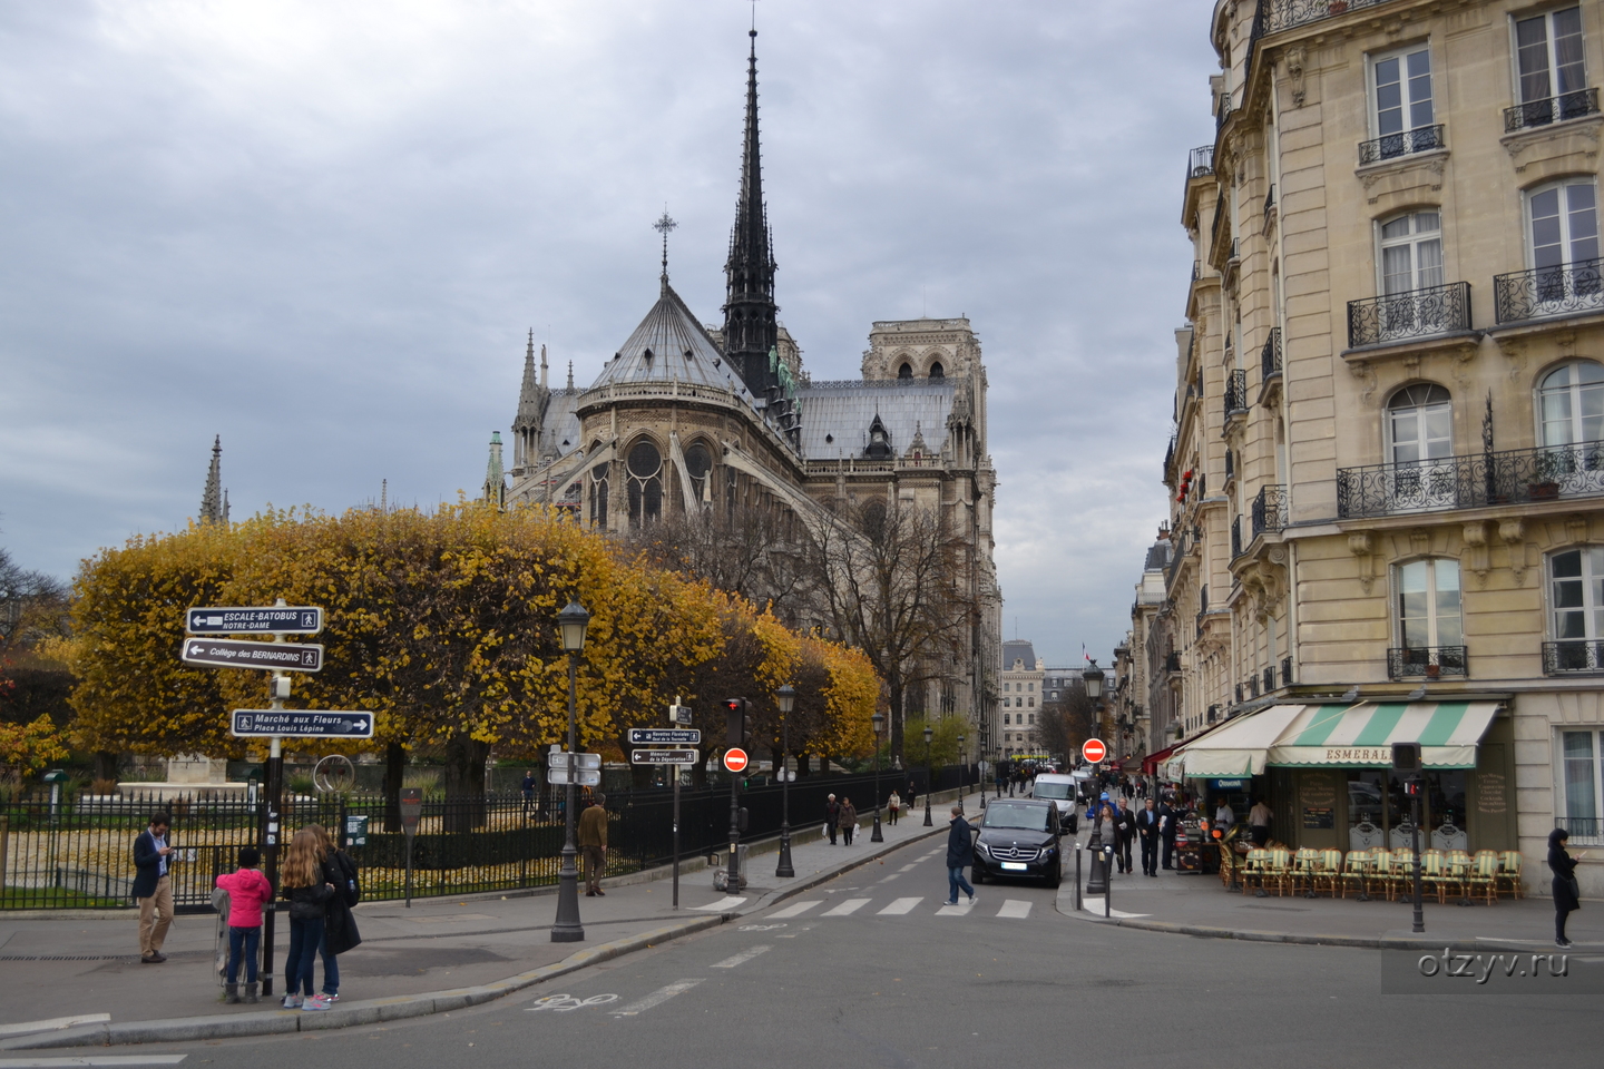
M390 998L371 998L367 1002L342 1002L335 1003L330 1010L318 1013L305 1013L302 1010L268 1010L226 1016L209 1015L197 1018L168 1018L165 1021L83 1024L55 1032L34 1032L29 1035L16 1035L8 1040L0 1040L0 1050L115 1047L124 1043L183 1043L194 1040L241 1039L247 1035L277 1035L284 1032L316 1032L324 1029L379 1024L382 1021L401 1021L404 1018L420 1018L433 1013L464 1010L467 1006L476 1006L484 1002L502 998L523 990L525 987L531 987L558 976L566 976L568 973L574 973L600 962L608 962L626 954L634 954L635 950L654 947L659 942L669 942L672 939L696 934L698 931L717 928L719 925L744 917L746 914L768 909L770 906L783 902L794 894L802 894L804 891L808 891L821 883L834 880L844 872L852 872L853 869L866 865L871 861L879 861L882 856L895 849L930 838L943 830L945 829L942 827L934 827L929 832L921 832L900 843L885 845L884 849L866 853L839 869L816 872L789 886L776 888L759 898L749 909L696 917L695 920L683 920L675 925L654 928L638 936L627 936L624 939L614 939L613 942L603 942L598 947L571 954L561 962L542 965L541 968L529 970L528 973L518 973L516 976L508 976L507 979L494 981L491 984L433 990L417 995L393 995Z

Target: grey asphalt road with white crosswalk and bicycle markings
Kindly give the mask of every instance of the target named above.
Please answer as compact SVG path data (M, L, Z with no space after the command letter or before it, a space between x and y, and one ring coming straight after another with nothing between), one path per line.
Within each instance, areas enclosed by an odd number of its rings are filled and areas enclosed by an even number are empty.
M1059 914L1039 885L988 883L950 910L943 853L909 845L760 917L468 1011L138 1053L184 1053L186 1069L1598 1064L1598 994L1383 994L1375 950L1110 928Z

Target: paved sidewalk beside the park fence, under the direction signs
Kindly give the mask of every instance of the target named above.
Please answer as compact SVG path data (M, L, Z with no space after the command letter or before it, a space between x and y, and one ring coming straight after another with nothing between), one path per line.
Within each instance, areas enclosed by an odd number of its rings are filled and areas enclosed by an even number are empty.
M869 843L869 817L865 817L850 848L818 840L820 825L812 824L800 838L813 841L792 838L797 875L786 880L775 877L778 843L759 843L747 859L749 885L739 894L714 891L709 870L687 872L682 864L678 910L672 909L667 867L653 870L658 878L630 873L603 881L606 894L602 898L585 898L581 883L584 942L550 941L555 888L533 894L412 899L411 909L399 901L363 902L356 907L363 946L340 955L340 1002L321 1013L279 1010L281 974L274 978L273 1002L221 1003L221 987L212 971L212 915L178 917L164 947L170 960L144 965L138 957L133 910L80 910L67 917L0 914L0 990L8 992L0 1008L0 1050L342 1027L486 1002L619 954L722 925L909 841L945 835L948 805L950 798L935 813L930 829L922 827L922 811L895 827L882 824L884 843ZM978 795L966 798L969 813L978 813ZM687 861L701 864L696 856ZM274 970L282 973L289 949L289 926L282 917L276 942ZM321 963L318 984L321 989ZM95 1015L109 1015L111 1024L27 1035L8 1035L14 1029L6 1027L61 1018L95 1019Z

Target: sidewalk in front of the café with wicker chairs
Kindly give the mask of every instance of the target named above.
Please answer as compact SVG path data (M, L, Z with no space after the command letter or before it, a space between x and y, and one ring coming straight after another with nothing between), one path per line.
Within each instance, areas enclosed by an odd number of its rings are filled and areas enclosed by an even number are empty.
M1084 845L1084 835L1081 841ZM1132 861L1140 865L1140 853L1132 848ZM1083 853L1083 878L1089 875L1091 854ZM1158 877L1120 873L1112 877L1110 912L1104 920L1104 899L1084 899L1075 910L1075 859L1065 857L1065 880L1059 889L1059 912L1081 920L1116 923L1126 928L1169 931L1222 939L1258 939L1267 942L1318 942L1330 946L1418 946L1444 941L1464 949L1477 944L1554 946L1554 902L1546 894L1524 899L1500 898L1495 906L1485 899L1476 906L1460 906L1456 899L1439 904L1436 894L1424 899L1426 934L1412 931L1413 901L1376 898L1315 899L1298 896L1256 898L1253 891L1225 891L1217 875L1160 870ZM1604 902L1585 901L1570 915L1567 933L1578 950L1604 949Z

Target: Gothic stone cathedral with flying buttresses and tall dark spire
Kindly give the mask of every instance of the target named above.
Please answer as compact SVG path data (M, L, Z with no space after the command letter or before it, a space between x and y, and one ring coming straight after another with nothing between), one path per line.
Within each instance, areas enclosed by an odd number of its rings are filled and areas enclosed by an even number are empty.
M747 59L741 189L722 325L703 325L669 285L589 386L550 386L525 353L512 465L492 436L489 500L549 503L622 532L666 510L786 508L808 522L882 498L938 510L962 543L967 649L909 712L961 713L994 740L1001 591L993 566L996 473L986 454L986 372L969 319L877 321L863 378L813 381L778 319L757 138L757 42ZM672 228L664 213L659 229ZM812 526L812 524L808 524ZM985 712L982 712L985 710ZM974 752L972 752L974 753ZM974 753L980 756L982 753Z

